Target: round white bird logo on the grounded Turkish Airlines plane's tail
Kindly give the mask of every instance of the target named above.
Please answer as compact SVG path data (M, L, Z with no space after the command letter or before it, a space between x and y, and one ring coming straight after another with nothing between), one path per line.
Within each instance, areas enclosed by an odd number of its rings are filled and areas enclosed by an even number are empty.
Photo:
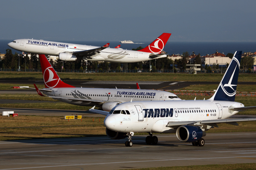
M60 81L58 75L54 73L55 71L52 67L48 67L44 71L44 83L48 88L54 88Z

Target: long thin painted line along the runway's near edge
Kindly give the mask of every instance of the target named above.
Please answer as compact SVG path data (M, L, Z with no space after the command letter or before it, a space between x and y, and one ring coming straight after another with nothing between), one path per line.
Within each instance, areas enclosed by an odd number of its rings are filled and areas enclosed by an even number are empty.
M148 160L148 161L121 161L121 162L104 162L104 163L88 163L88 164L67 164L67 165L53 165L53 166L42 166L42 167L20 167L20 168L9 168L0 170L21 170L21 169L33 169L33 168L49 168L49 167L70 167L70 166L81 166L81 165L102 165L102 164L124 164L124 163L138 163L138 162L157 162L157 161L182 161L182 160L200 160L200 159L228 159L228 158L252 158L256 156L228 156L228 157L211 157L211 158L185 158L185 159L164 159L164 160Z

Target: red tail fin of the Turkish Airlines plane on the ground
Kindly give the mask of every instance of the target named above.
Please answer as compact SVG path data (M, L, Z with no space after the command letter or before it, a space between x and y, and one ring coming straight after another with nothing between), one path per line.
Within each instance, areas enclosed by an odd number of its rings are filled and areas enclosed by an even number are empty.
M74 86L62 82L45 55L40 54L39 59L41 62L45 88L74 88Z

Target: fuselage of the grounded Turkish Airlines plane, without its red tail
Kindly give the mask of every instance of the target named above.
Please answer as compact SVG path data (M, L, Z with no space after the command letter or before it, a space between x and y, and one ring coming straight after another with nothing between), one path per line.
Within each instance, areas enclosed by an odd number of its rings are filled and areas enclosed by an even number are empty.
M79 99L102 100L106 102L130 102L132 101L157 101L157 100L180 100L175 94L157 90L137 89L110 89L110 88L44 88L52 90L45 92L47 96L65 97L58 99L62 102L81 106L100 106L96 102L79 101ZM56 98L57 99L57 98ZM71 100L78 99L78 100ZM99 102L97 102L99 103ZM103 102L102 102L103 104Z

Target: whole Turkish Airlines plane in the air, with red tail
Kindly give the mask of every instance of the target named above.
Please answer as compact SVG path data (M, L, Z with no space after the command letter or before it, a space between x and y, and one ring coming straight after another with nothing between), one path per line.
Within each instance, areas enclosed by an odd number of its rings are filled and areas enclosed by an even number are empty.
M84 59L88 61L106 62L141 62L151 59L167 57L161 54L171 34L163 33L142 50L132 51L119 48L108 48L109 43L102 46L70 44L33 39L13 40L8 45L15 50L27 53L58 56L64 61L76 61Z

